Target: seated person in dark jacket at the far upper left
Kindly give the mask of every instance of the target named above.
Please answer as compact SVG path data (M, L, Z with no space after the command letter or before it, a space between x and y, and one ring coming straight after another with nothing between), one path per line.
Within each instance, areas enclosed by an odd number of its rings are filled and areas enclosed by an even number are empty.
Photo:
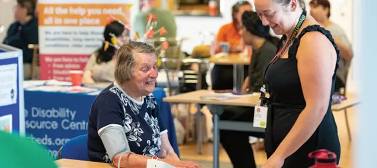
M3 43L22 49L24 57L24 78L32 76L33 50L29 44L38 44L38 18L34 15L35 0L17 0L15 19L7 31Z

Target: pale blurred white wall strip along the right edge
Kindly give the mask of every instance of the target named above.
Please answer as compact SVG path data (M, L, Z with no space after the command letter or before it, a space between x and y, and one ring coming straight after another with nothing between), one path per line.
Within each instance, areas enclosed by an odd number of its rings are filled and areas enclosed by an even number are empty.
M376 0L355 0L354 1L354 41L355 53L360 56L360 100L357 110L355 126L355 149L353 152L355 161L353 167L376 167L375 156L377 150L377 113L375 104L377 99L377 82L375 72L377 71L377 55L375 54L375 19ZM356 43L357 42L357 43Z

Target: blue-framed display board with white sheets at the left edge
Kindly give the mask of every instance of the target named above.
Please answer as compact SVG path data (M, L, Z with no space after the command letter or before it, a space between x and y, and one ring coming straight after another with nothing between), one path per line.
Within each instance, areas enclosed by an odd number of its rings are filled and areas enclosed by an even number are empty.
M25 135L22 50L0 44L0 130Z

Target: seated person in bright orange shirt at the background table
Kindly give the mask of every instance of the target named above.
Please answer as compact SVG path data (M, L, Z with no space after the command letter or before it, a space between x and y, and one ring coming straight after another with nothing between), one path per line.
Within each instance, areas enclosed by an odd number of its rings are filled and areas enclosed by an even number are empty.
M244 46L242 42L239 30L241 29L242 23L239 22L237 16L241 8L251 7L250 2L242 1L236 2L232 6L232 18L231 23L225 24L220 27L219 32L216 36L216 43L218 42L229 42L229 52L240 53L243 52ZM243 11L245 9L242 9ZM218 46L215 44L215 47ZM216 50L219 49L216 47ZM248 67L244 67L244 75L247 76ZM233 65L215 65L211 71L211 83L212 89L214 90L226 90L233 88Z

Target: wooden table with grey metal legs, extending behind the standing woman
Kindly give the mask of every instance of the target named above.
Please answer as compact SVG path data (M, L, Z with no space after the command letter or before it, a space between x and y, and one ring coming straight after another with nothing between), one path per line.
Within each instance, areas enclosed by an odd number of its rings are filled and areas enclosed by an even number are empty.
M237 106L255 106L258 104L259 95L250 94L249 96L242 95L239 98L229 99L229 100L209 100L202 99L201 96L208 96L220 93L214 93L212 90L196 90L192 92L182 93L178 95L173 95L169 97L164 97L163 101L175 102L175 103L200 103L207 105L216 105L215 108L211 109L213 114L213 131L214 131L214 143L213 143L213 167L219 167L219 143L220 143L220 134L219 129L228 129L228 130L239 130L239 131L257 131L264 132L264 128L254 127L252 122L240 122L240 121L223 121L219 120L219 116L223 112L222 106L224 105L237 105ZM236 95L234 95L236 96ZM331 108L334 111L345 110L351 106L354 106L359 103L359 100L356 96L349 96L347 100L342 101L340 104L335 104ZM197 119L200 121L200 119ZM200 122L197 123L200 127ZM198 126L198 125L197 125ZM348 127L348 123L347 123ZM200 133L199 133L200 134ZM198 135L198 150L200 151L201 147L201 138Z

